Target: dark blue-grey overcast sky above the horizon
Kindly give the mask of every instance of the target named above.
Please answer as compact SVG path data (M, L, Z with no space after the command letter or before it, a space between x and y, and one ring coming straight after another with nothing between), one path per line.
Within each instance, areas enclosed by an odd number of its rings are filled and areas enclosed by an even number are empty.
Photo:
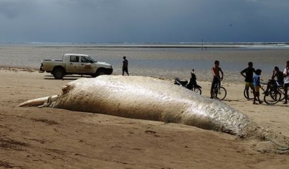
M0 42L288 42L289 0L0 0Z

